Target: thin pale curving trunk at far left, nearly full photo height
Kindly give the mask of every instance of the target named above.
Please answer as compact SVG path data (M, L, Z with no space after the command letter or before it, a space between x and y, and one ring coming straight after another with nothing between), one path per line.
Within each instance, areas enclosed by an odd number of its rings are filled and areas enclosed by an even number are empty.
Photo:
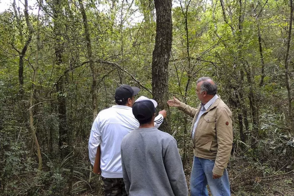
M27 1L27 0L26 0ZM34 73L33 73L33 80L32 80L32 89L31 89L31 96L30 96L30 108L29 108L29 115L30 115L30 129L31 129L31 133L32 136L34 138L35 141L35 145L36 145L36 149L37 149L37 153L38 153L38 160L39 160L39 167L38 170L41 171L42 170L42 156L41 156L41 150L40 150L40 145L38 142L38 138L36 135L36 129L34 127L34 114L33 114L33 102L34 102L34 92L35 92L35 84L36 84L36 77L37 77L37 71L38 71L38 59L39 59L39 49L40 49L40 21L39 21L39 13L40 13L40 8L41 5L39 5L39 11L38 11L38 16L37 16L37 51L36 51L36 55L35 55L35 65L34 65Z

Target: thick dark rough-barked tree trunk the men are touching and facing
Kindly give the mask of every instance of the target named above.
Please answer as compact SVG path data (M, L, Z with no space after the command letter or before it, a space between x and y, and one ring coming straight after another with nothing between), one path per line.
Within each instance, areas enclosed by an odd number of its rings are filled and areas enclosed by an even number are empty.
M168 60L171 54L172 20L171 0L155 0L156 38L152 54L152 95L158 102L158 109L169 108L168 100ZM171 133L169 115L163 121L161 130Z

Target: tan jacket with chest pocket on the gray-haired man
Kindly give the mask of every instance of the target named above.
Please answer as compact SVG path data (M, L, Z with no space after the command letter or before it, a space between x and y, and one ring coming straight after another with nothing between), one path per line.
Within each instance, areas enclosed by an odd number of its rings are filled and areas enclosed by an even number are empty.
M201 107L200 104L197 109L192 108L182 102L179 106L180 110L193 118L191 136L193 125ZM220 99L220 96L200 117L192 141L194 155L199 158L215 160L212 172L216 175L223 175L223 170L228 165L232 150L233 128L232 112Z

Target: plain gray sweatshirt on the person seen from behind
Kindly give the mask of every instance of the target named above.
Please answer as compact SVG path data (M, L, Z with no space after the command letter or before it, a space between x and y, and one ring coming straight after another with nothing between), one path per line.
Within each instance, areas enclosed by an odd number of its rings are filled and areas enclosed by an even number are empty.
M188 195L176 140L157 128L135 129L121 143L123 181L129 196Z

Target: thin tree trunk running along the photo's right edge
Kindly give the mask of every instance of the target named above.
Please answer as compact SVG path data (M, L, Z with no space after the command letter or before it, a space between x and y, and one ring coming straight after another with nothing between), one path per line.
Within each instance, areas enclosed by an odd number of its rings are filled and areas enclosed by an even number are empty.
M293 21L293 0L290 0L290 21L289 21L289 31L288 31L288 38L287 38L287 50L285 55L285 82L287 87L287 94L288 94L288 115L290 120L290 130L294 132L293 129L293 118L292 118L292 98L291 98L291 86L290 86L290 79L289 79L289 65L288 65L288 58L289 58L289 50L290 50L290 42L291 42L291 32L292 32L292 21Z

